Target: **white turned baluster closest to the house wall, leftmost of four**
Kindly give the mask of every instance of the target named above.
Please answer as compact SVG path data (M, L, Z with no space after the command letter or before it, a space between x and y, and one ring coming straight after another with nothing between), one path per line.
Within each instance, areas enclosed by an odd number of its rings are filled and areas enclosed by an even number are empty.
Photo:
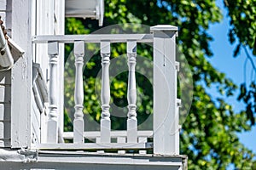
M47 143L58 142L58 42L48 43L49 54L49 116L47 124Z

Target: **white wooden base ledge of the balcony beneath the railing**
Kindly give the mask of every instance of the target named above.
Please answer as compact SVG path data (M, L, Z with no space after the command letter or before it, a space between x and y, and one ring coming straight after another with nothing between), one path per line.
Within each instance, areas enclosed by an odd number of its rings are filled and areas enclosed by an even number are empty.
M3 169L44 169L44 170L186 170L187 156L155 156L116 153L98 154L83 151L64 150L38 150L37 162L24 163L29 161L29 156L19 155L17 151L0 150L2 157L9 161L2 161ZM2 158L1 157L1 158ZM25 158L24 158L25 157ZM36 157L36 156L34 156ZM12 161L16 161L15 163ZM34 161L32 159L32 161Z

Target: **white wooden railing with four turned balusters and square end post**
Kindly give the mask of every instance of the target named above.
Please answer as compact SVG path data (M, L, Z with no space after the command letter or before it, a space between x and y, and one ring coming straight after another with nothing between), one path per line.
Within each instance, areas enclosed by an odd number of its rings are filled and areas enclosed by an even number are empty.
M102 34L102 35L68 35L68 36L35 36L33 43L48 43L49 54L49 116L47 122L47 142L34 144L39 149L62 150L105 150L118 149L124 153L129 149L152 149L155 154L179 154L178 138L178 103L177 99L177 67L175 61L175 41L177 27L153 26L150 34ZM99 132L84 132L84 88L83 65L84 43L99 43L102 56L102 90L101 90L101 128ZM128 114L126 131L111 130L110 109L110 44L126 42L128 76ZM136 88L136 59L137 43L153 42L154 47L154 127L153 131L137 130L137 88ZM58 132L58 94L57 75L59 44L74 43L75 56L75 112L73 132ZM85 125L86 126L86 125ZM63 133L64 139L73 139L73 144L58 143L58 133ZM153 138L154 145L148 143ZM95 139L96 143L84 143L84 139ZM116 139L116 143L111 143ZM153 147L154 146L154 147ZM142 152L144 153L144 152Z

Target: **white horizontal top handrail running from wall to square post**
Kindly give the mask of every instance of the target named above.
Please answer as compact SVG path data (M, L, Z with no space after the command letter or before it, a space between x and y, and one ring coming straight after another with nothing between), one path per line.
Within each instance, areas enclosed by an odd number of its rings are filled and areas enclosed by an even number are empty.
M33 36L33 43L48 43L48 42L59 42L59 43L73 43L75 41L84 42L153 42L152 34L90 34L90 35L56 35L56 36Z

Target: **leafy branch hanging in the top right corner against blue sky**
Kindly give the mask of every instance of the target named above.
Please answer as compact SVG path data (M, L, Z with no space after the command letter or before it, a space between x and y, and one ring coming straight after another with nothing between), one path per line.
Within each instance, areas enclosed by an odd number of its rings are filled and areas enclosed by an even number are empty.
M253 57L256 56L256 1L224 1L225 7L229 9L230 17L230 43L236 44L234 51L234 57L237 57L241 48L244 49L247 60L253 67L253 73L256 71L256 67L252 56L248 53L247 48L253 51ZM246 105L247 118L251 124L255 124L255 117L253 113L256 112L256 85L255 78L249 82L244 82L240 86L239 100L242 100Z

